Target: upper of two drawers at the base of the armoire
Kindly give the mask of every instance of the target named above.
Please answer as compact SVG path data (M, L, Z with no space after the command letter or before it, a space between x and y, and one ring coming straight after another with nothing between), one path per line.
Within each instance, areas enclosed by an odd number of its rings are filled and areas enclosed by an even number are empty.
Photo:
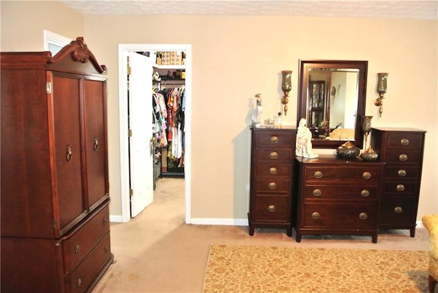
M62 242L64 273L68 274L73 270L103 235L110 231L109 214L109 207L106 205L94 216L90 215L92 218L79 231L73 232L70 238Z

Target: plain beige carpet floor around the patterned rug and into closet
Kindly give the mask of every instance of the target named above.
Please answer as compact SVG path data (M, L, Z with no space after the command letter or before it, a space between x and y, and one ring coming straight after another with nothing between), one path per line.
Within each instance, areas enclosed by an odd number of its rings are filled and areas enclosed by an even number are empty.
M154 202L127 223L111 224L110 266L93 292L202 292L211 244L288 246L337 249L396 249L427 251L428 232L418 227L381 231L376 244L368 236L295 235L283 229L256 229L219 225L186 225L184 179L160 178Z

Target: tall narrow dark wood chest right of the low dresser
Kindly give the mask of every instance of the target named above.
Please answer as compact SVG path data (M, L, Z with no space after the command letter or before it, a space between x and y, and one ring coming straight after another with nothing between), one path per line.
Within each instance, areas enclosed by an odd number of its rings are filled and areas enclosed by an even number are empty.
M409 229L415 236L426 131L373 128L371 146L385 162L379 229Z

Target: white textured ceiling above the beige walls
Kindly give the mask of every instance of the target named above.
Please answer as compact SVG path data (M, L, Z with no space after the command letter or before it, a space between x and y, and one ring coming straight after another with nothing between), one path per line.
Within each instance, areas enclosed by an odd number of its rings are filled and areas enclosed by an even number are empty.
M438 0L60 0L81 14L289 15L437 19Z

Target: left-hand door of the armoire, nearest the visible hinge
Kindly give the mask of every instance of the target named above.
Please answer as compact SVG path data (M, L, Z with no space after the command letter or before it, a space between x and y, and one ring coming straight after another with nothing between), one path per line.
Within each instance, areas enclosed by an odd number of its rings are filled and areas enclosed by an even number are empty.
M55 219L59 218L59 229L64 233L80 220L84 210L81 176L80 79L75 75L58 76L57 74L53 73L51 99L49 96L49 112L50 103L53 103L51 139L55 160L52 185L53 201L55 201L54 216Z

